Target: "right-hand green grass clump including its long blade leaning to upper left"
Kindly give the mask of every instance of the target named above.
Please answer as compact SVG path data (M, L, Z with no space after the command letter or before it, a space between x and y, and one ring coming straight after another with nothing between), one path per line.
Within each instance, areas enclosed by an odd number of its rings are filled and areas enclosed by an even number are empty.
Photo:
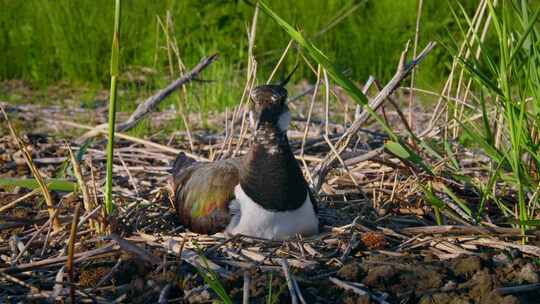
M261 2L261 7L312 60L328 71L334 82L355 101L365 104L365 96L335 68L328 56L264 2ZM493 203L507 219L514 218L506 224L513 222L525 235L527 229L540 222L540 5L516 0L502 1L496 6L493 0L483 0L474 21L459 2L452 4L451 8L463 34L464 47L451 51L462 69L460 72L453 67L449 90L443 94L455 95L457 98L454 100L459 101L456 104L450 100L447 102L446 125L453 123L454 127L443 130L444 149L437 151L425 138L409 132L411 140L422 147L415 149L414 145L409 146L402 141L401 134L392 130L377 113L369 108L366 110L394 140L385 145L388 150L402 159L412 160L407 157L412 155L416 159L414 163L420 165L429 163L428 155L434 156L448 163L446 173L457 180L462 179L463 170L455 159L453 151L456 146L450 137L465 135L472 139L469 144L490 157L489 176L474 181L474 186L481 192L480 204L462 200L444 185L435 190L427 179L427 187L423 190L426 201L435 209L439 224L443 222L441 211L452 217L455 217L453 212L457 212L462 222L465 219L482 223L487 204ZM464 106L465 103L468 107ZM480 122L477 118L481 118ZM416 154L415 150L420 153ZM421 167L433 176L429 165ZM455 203L454 211L448 210L446 200L440 199L435 194L437 191ZM515 199L501 199L514 195Z

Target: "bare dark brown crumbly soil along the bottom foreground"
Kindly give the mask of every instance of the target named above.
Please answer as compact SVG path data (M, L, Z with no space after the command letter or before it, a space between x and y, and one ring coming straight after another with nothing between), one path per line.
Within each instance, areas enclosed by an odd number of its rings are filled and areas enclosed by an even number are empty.
M538 303L540 297L538 286L532 291L508 291L508 287L512 286L540 283L539 267L534 261L522 257L501 263L494 252L444 261L422 256L363 254L363 257L350 258L339 269L330 267L325 272L333 272L335 277L346 282L363 284L373 294L385 296L388 303ZM81 287L94 286L108 270L103 266L88 266L79 274ZM141 265L140 261L128 260L125 269L119 271L113 281L118 285L128 284L133 287L128 288L128 298L133 299L134 303L149 303L159 297L165 284L174 282L173 297L183 296L182 290L192 290L203 285L204 281L194 272L194 269L184 265L175 271L156 275L150 268ZM369 296L343 291L332 284L328 277L302 271L293 271L293 274L298 279L307 303L377 303L371 302ZM250 276L250 303L267 303L270 284L276 303L288 303L291 300L281 273L252 270ZM222 282L235 303L242 301L243 282L243 273ZM511 294L507 294L509 292ZM187 301L209 303L215 298L213 291L204 290L193 294Z

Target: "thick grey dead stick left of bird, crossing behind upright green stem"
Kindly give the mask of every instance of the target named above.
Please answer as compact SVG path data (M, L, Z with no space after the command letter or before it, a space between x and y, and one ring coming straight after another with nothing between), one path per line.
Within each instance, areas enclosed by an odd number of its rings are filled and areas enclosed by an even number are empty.
M194 80L202 72L202 70L204 70L212 62L214 62L217 58L218 58L217 54L203 58L199 62L199 64L197 64L193 68L193 70L184 74L182 77L176 79L175 81L170 83L167 87L165 87L162 90L159 90L156 94L150 96L143 103L139 104L137 109L131 114L131 116L125 122L116 125L116 130L121 132L121 131L126 131L133 128L140 120L142 120L146 115L152 112L161 103L161 101L163 101L167 96L169 96L172 92L176 91L181 86ZM97 126L94 130L91 130L83 134L79 138L78 141L83 142L84 140L90 137L97 136L99 133L101 133L100 130L105 130L107 129L107 127L108 127L107 124L101 124Z

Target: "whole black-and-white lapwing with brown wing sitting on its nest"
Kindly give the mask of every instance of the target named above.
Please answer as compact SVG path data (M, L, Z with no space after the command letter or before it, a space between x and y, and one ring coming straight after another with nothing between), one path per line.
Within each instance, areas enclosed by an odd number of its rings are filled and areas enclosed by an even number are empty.
M175 159L169 193L188 230L270 240L318 233L316 200L287 138L289 79L250 92L255 131L245 155L197 162L180 153Z

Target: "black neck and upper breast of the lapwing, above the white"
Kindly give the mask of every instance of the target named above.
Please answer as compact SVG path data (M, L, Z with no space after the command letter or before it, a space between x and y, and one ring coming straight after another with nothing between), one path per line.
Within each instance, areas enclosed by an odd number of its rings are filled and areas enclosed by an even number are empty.
M274 124L259 126L241 171L242 189L267 210L294 210L306 200L307 183L287 134Z

